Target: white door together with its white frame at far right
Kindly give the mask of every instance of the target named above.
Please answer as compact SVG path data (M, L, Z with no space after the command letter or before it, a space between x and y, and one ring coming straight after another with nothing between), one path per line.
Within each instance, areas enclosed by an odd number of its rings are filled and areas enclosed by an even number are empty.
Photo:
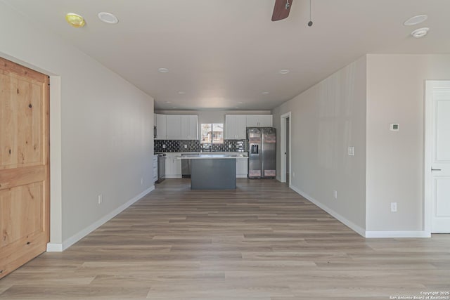
M450 233L450 81L425 84L425 233Z

